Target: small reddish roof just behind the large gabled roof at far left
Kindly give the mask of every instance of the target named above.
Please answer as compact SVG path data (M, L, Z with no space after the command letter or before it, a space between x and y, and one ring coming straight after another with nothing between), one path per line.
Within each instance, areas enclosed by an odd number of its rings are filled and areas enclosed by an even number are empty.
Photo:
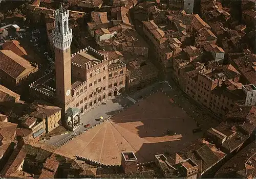
M19 45L19 42L17 40L11 40L7 41L2 45L3 50L11 50L18 56L24 56L28 55L26 50Z

